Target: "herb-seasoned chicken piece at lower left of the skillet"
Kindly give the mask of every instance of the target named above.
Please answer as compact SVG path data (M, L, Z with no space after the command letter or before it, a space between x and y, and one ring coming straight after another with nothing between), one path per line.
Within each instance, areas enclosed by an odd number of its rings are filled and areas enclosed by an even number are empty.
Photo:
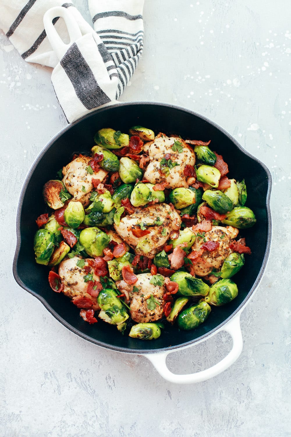
M86 298L89 298L92 301L92 309L95 311L100 309L100 307L97 303L97 298L87 293L88 282L84 281L84 276L87 274L92 274L93 281L99 281L99 276L94 273L93 269L90 269L90 271L89 269L87 269L87 271L84 270L84 267L88 266L87 258L84 259L85 266L82 268L78 267L77 262L80 259L81 258L79 257L74 257L60 262L58 266L58 274L60 275L61 282L64 285L63 293L71 299L76 296L86 296Z

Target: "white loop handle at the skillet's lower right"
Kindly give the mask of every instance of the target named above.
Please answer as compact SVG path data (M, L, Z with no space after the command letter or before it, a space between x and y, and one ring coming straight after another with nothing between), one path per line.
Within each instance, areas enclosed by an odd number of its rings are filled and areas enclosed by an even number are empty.
M170 350L169 352L166 351L158 352L156 354L153 353L143 355L151 361L159 374L169 382L174 382L176 384L192 384L194 382L206 381L207 379L213 378L229 368L229 366L231 366L237 360L241 354L241 351L243 350L243 337L240 329L240 313L234 316L233 319L231 319L226 326L223 326L223 328L220 330L226 331L231 335L233 339L233 348L229 354L223 358L222 361L210 367L209 369L202 370L200 372L189 375L175 375L169 371L166 365L166 358L170 352L174 352L173 350Z

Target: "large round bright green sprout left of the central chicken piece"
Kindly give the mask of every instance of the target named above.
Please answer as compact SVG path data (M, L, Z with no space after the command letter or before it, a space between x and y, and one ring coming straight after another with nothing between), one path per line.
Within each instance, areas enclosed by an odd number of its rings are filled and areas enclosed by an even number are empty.
M103 256L103 249L109 242L110 237L98 228L86 228L80 232L80 243L90 257Z

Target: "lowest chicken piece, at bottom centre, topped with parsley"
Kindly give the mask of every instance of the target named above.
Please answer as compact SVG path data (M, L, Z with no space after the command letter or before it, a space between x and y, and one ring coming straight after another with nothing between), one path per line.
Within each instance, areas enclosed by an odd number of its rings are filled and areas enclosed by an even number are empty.
M156 322L161 320L164 309L163 295L167 292L164 285L150 284L151 273L137 275L134 285L127 285L125 281L117 281L116 286L120 292L128 291L130 297L130 316L137 323ZM164 279L164 277L162 276ZM135 287L135 288L134 288ZM138 291L133 291L138 288ZM149 302L147 302L147 300ZM154 307L154 309L149 309Z

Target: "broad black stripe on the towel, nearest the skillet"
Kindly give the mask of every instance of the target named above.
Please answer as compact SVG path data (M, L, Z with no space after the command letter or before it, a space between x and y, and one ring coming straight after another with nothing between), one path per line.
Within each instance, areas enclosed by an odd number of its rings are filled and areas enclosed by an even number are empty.
M96 108L111 101L99 87L92 70L75 42L68 49L60 64L86 109Z

